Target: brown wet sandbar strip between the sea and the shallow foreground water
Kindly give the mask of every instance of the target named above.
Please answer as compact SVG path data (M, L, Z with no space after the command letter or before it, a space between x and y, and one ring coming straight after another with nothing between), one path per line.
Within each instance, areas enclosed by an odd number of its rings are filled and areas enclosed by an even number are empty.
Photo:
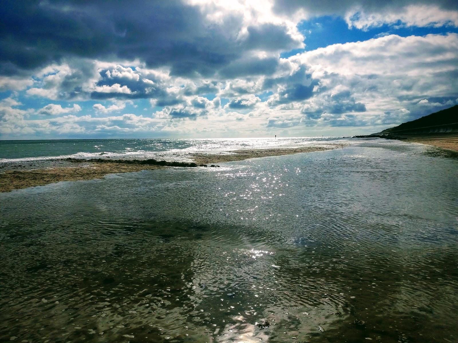
M251 149L234 150L230 154L206 155L194 154L187 156L197 164L214 164L219 162L242 161L249 158L290 155L304 152L324 151L342 148L345 145L306 146L301 148ZM161 169L164 166L136 163L99 162L91 160L71 161L71 166L41 168L32 170L7 170L0 173L0 192L10 192L35 186L44 186L61 181L91 180L103 178L107 174Z

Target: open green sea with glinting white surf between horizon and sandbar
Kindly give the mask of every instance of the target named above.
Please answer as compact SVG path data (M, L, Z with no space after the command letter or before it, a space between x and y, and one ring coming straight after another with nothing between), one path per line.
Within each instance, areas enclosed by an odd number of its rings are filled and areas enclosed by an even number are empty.
M0 140L0 163L43 161L55 158L167 159L185 158L192 152L249 148L297 147L327 143L354 143L339 137L257 139L62 139Z

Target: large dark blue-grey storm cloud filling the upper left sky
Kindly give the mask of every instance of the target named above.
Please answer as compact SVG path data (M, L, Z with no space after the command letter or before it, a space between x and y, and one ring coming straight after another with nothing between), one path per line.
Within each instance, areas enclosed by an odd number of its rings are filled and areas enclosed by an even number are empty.
M197 6L168 1L5 0L0 14L0 72L18 74L71 57L140 59L148 67L169 66L171 75L235 75L231 63L245 52L289 50L283 26L249 27L237 39L242 18L227 14L209 24ZM271 72L274 61L245 62L241 74Z

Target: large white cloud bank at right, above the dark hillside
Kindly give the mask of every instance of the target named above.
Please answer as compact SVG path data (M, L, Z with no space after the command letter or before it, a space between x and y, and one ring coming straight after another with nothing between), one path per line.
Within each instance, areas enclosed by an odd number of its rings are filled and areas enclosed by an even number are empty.
M288 61L305 65L318 90L299 103L302 115L296 105L277 106L272 127L389 125L456 103L457 34L334 44Z

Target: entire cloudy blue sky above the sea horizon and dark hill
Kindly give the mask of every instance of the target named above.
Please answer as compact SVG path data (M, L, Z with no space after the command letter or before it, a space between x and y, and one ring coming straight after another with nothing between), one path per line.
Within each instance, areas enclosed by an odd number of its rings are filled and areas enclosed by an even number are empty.
M2 1L0 139L348 136L456 104L458 1Z

